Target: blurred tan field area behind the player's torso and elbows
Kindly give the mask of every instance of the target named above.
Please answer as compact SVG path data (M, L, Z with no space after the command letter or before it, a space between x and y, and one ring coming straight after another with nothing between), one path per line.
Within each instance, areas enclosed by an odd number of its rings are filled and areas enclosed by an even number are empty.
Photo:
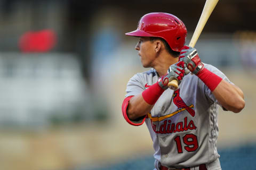
M256 142L256 77L242 71L222 71L244 91L246 106L239 114L220 109L218 147ZM0 169L75 169L153 154L146 126L131 126L122 117L121 104L128 80L121 75L116 78L113 89L123 91L123 94L114 94L111 106L113 115L108 122L90 122L42 131L2 130Z

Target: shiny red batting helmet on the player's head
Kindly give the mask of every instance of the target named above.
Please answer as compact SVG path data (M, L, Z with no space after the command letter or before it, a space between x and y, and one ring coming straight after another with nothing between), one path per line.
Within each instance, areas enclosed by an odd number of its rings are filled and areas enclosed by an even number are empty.
M187 29L185 24L172 14L154 12L144 16L139 21L135 31L125 33L135 37L161 37L167 41L172 50L180 52L185 45Z

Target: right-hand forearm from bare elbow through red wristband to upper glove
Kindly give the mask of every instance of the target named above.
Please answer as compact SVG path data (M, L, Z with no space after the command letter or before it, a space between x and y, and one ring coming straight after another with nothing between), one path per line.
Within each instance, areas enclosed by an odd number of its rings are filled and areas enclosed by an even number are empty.
M244 108L245 102L242 90L207 70L195 48L184 46L179 61L186 63L188 69L205 83L219 103L228 111L238 113Z

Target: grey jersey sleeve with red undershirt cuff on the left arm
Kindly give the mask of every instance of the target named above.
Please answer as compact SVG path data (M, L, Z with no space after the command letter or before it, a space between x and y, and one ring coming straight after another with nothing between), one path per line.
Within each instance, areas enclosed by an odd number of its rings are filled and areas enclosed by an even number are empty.
M139 73L135 74L127 83L126 95L122 104L122 112L125 120L129 124L134 126L142 125L145 122L147 115L139 117L137 118L137 120L130 120L127 116L126 109L127 109L127 106L129 105L130 99L133 96L140 94L144 90L145 90L145 87L143 86L143 78Z

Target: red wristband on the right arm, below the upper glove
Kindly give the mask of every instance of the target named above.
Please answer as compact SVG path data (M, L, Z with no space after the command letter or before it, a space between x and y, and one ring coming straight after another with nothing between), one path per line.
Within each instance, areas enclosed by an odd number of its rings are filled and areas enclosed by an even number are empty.
M213 91L218 84L221 82L222 78L218 75L214 74L213 72L203 69L201 72L197 74L198 78L201 79L205 85Z

